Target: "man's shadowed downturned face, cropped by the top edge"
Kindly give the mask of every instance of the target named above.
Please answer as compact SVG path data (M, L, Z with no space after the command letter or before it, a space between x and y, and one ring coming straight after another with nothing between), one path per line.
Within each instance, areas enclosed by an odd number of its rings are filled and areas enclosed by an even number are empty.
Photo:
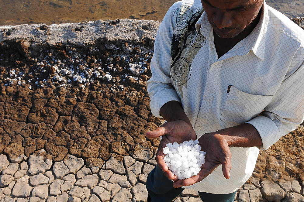
M222 38L241 33L257 16L263 0L201 0L214 32Z

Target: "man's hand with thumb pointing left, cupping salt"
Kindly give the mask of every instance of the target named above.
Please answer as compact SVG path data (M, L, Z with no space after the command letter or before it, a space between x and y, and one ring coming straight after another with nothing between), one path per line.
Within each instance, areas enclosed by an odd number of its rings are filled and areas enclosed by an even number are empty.
M177 142L178 144L181 144L184 141L189 141L190 139L193 141L196 140L196 133L192 128L192 125L189 125L187 122L182 120L165 122L154 131L147 132L146 136L148 138L158 138L162 136L156 152L156 163L163 170L165 176L167 176L170 180L177 181L177 176L172 174L164 161L165 154L163 149L168 143Z

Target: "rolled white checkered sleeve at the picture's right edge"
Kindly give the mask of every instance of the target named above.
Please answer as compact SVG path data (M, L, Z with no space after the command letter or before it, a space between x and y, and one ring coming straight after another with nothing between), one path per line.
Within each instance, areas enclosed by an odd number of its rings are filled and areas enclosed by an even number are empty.
M295 54L288 74L272 101L260 116L246 122L259 132L263 145L268 149L280 137L295 130L304 118L304 51L301 46Z

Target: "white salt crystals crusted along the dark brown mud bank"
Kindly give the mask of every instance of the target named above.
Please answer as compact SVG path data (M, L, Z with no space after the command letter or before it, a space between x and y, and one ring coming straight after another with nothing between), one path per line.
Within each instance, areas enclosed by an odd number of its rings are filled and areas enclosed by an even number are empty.
M124 44L123 46L128 45ZM90 48L92 50L94 49L93 51L99 51L97 48ZM69 54L71 57L60 60L59 56L54 54L54 50L50 50L47 51L47 55L41 53L40 56L32 59L34 63L29 69L28 74L25 74L24 71L19 68L14 68L3 75L4 78L1 82L4 82L5 86L30 84L30 89L33 86L47 87L50 83L56 83L59 87L67 89L77 84L80 84L79 87L84 88L95 80L113 83L119 80L124 81L126 78L133 78L137 81L139 80L138 76L147 72L147 61L153 52L148 51L142 46L135 46L135 48L143 50L143 54L141 54L143 57L140 57L136 61L133 61L131 53L114 55L114 58L119 58L120 63L125 63L125 66L129 66L128 70L130 71L124 70L124 74L117 73L117 69L122 67L114 67L112 64L113 57L107 59L107 62L111 63L108 65L106 63L102 64L100 59L92 59L92 55L87 56L78 51L70 50ZM87 62L89 60L88 58L92 61ZM133 63L130 63L130 61L133 61ZM126 67L124 67L124 69L126 69ZM27 78L28 75L31 75L31 77Z

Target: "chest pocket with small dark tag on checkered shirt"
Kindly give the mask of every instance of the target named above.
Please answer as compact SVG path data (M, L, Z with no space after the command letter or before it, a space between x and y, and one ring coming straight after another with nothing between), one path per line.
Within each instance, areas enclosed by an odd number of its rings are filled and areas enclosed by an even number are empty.
M221 120L242 124L259 115L269 104L273 95L254 95L231 86Z

